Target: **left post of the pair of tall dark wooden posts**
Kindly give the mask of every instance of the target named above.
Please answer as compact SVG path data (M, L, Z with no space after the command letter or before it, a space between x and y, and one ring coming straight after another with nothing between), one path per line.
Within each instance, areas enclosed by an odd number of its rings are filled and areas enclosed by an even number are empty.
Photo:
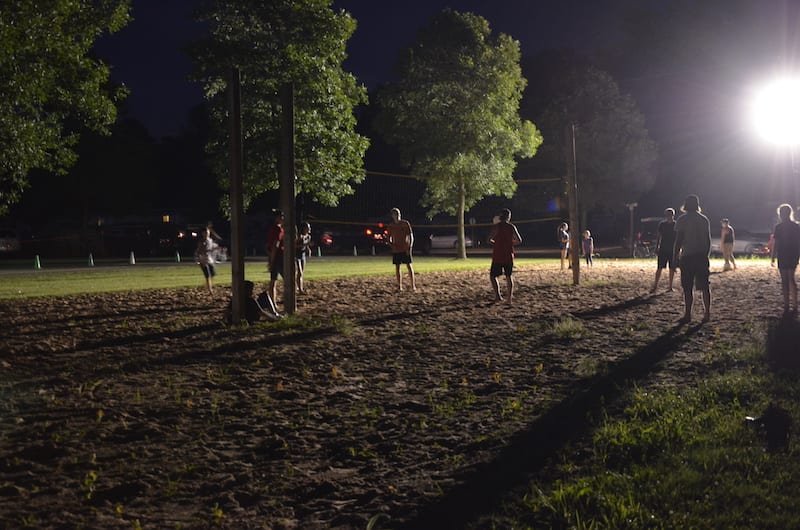
M242 86L238 68L231 68L228 80L231 181L231 320L238 324L245 316L244 299L244 200L242 186Z

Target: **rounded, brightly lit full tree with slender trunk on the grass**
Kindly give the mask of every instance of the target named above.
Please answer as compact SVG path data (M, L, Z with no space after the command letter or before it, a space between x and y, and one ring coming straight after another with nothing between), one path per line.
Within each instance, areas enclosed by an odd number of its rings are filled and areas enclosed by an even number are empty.
M426 177L428 215L457 216L462 258L464 213L487 195L513 196L515 157L533 156L542 141L518 114L519 61L519 43L493 37L486 19L445 9L401 55L400 80L379 94L378 129Z

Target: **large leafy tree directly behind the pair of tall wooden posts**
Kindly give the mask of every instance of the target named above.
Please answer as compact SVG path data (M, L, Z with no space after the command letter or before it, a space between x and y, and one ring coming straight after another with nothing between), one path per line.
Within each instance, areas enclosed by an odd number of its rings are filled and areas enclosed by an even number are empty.
M368 141L355 130L353 108L366 89L342 67L356 23L330 0L221 0L200 18L211 38L194 47L212 122L208 150L220 184L228 182L227 75L241 72L244 201L277 189L279 89L295 87L297 192L335 206L364 179Z

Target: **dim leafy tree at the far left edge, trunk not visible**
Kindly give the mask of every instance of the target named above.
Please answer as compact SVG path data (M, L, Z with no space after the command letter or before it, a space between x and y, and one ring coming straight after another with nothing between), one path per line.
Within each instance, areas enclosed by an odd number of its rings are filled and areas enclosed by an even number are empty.
M129 0L18 0L0 10L0 214L31 170L63 174L75 162L80 127L108 133L125 91L107 87L108 66L90 51L129 11Z

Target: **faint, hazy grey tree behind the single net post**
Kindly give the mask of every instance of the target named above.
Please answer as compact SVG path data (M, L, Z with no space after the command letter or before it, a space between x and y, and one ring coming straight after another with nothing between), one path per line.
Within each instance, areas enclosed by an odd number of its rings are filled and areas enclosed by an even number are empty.
M572 64L561 63L565 60ZM546 93L531 94L525 107L526 115L535 117L545 137L530 169L541 177L563 176L571 156L565 130L575 125L583 226L591 209L616 210L653 186L656 144L636 102L620 91L610 74L579 58L558 54L546 54L531 64L531 71L548 72L549 82ZM535 109L537 103L544 107Z

